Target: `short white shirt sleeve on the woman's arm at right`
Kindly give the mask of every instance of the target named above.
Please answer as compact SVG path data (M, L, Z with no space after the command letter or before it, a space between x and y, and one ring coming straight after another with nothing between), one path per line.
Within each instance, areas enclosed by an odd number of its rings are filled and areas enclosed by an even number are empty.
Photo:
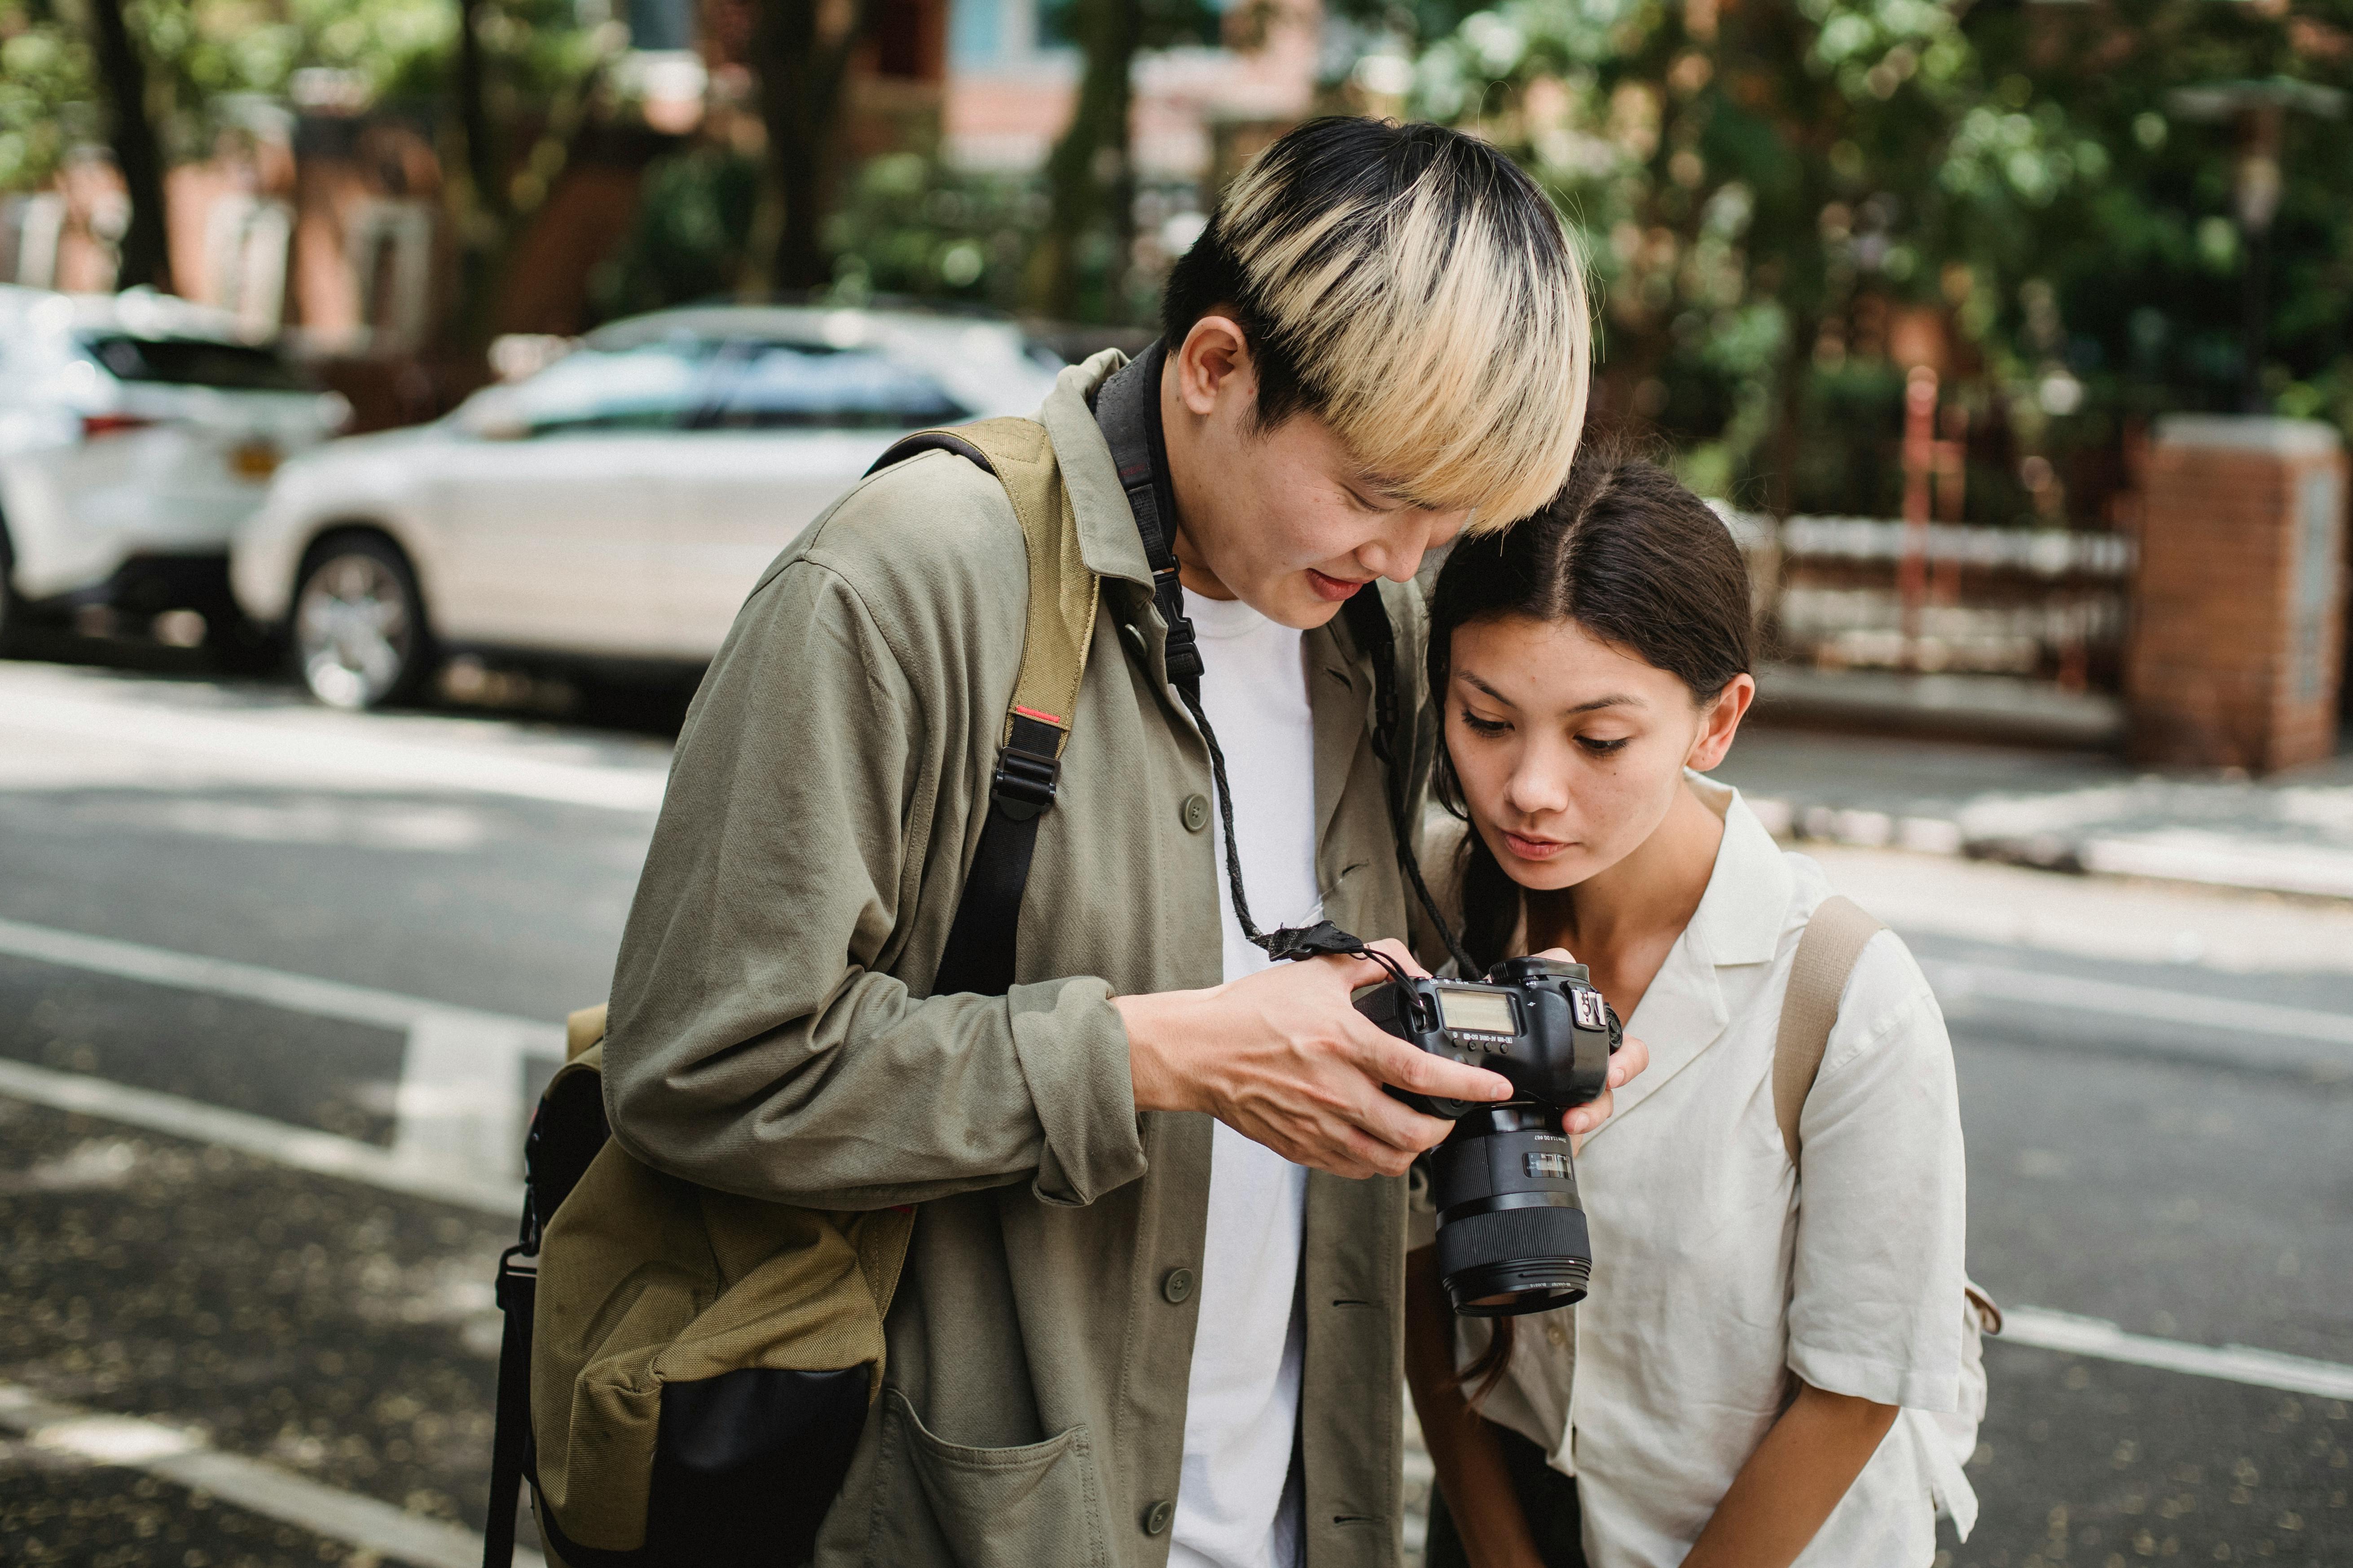
M1958 1408L1960 1091L1944 1013L1892 931L1857 961L1798 1131L1791 1371L1831 1394Z

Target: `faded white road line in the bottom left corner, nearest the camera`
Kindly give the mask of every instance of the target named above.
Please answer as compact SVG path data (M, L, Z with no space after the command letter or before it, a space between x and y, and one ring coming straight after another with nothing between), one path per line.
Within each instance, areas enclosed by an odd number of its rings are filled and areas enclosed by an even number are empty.
M33 1389L0 1382L0 1427L26 1434L35 1448L89 1465L122 1465L179 1486L212 1493L252 1514L301 1526L313 1535L351 1542L416 1568L480 1568L482 1537L464 1526L405 1514L391 1502L360 1497L306 1481L278 1465L221 1453L186 1427L104 1415L42 1399ZM546 1568L546 1559L522 1547L515 1568Z

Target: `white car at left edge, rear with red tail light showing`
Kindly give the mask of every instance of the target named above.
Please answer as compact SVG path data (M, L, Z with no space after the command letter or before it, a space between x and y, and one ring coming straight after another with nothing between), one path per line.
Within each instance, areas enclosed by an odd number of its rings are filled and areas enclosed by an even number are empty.
M0 635L85 604L235 630L231 534L348 416L216 310L0 287Z

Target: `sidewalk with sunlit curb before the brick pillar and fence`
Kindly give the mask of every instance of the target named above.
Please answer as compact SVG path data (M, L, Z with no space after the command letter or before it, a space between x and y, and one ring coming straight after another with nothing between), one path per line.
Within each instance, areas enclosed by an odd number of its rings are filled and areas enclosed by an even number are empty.
M2353 755L2268 780L2106 752L1744 729L1715 773L1781 837L2353 898Z

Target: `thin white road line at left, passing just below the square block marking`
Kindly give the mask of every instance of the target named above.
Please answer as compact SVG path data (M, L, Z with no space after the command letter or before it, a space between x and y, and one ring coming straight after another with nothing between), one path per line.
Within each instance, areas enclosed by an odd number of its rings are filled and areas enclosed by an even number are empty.
M56 1110L104 1117L127 1126L144 1126L151 1133L169 1133L193 1143L214 1143L224 1150L256 1154L280 1166L336 1175L386 1192L478 1208L511 1220L522 1213L522 1182L499 1182L454 1171L447 1159L416 1159L393 1150L379 1150L358 1138L336 1138L268 1117L200 1105L179 1095L129 1088L108 1079L80 1072L52 1072L28 1063L0 1058L0 1095L52 1105Z

